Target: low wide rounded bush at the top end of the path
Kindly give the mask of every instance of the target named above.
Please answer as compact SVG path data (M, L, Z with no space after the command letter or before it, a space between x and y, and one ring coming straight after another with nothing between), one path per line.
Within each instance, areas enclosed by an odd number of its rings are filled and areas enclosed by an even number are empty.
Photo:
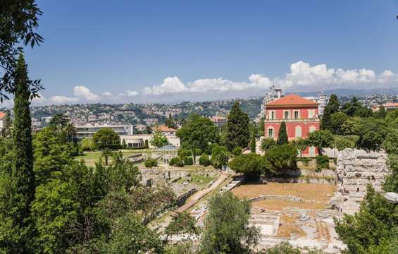
M254 178L266 174L264 157L252 152L235 157L228 165L233 171L247 174L250 177L254 176Z

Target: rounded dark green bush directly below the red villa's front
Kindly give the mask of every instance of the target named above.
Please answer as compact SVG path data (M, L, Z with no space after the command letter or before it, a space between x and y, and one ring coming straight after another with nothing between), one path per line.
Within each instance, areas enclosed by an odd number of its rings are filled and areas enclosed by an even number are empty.
M297 148L292 145L276 145L266 151L264 158L270 173L284 174L287 170L297 169Z

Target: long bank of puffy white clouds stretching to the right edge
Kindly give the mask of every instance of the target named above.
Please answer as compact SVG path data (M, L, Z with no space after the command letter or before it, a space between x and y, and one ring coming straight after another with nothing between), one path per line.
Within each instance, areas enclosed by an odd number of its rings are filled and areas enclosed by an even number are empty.
M268 78L261 74L251 74L248 82L237 82L223 78L198 79L183 83L178 77L168 77L161 85L144 87L144 95L163 95L195 92L237 92L266 90L271 85L290 90L328 90L331 87L358 88L363 84L394 84L398 83L398 75L392 71L383 71L377 75L369 69L328 68L325 63L311 66L304 61L290 65L290 73L282 78Z

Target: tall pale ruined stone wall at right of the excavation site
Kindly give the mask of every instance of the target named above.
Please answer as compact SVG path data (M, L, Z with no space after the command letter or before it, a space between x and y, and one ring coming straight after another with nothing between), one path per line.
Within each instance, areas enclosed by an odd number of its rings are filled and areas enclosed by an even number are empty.
M347 148L337 154L337 208L354 214L366 195L366 186L371 183L376 191L382 191L388 173L385 152L366 152Z

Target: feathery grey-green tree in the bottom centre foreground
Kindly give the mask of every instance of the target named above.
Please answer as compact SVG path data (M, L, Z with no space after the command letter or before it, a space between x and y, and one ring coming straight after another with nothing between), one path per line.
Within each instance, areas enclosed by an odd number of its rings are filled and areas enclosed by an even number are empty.
M232 193L216 194L209 200L200 253L249 253L259 242L259 229L249 226L251 205Z

